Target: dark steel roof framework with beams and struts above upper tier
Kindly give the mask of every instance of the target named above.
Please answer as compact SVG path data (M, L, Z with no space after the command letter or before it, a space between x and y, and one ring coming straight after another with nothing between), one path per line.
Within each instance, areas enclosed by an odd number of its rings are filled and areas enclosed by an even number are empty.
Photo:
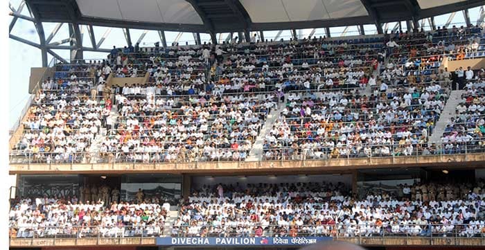
M256 33L259 39L264 40L263 30L279 30L279 33L274 37L275 40L279 39L283 30L291 30L292 36L297 38L299 37L297 35L297 29L303 28L313 28L310 36L315 33L316 28L325 28L326 35L330 37L330 27L347 26L342 32L342 35L345 35L349 28L348 26L351 25L358 27L360 35L365 35L364 24L375 25L378 33L398 30L401 21L405 21L408 28L419 28L425 25L425 22L430 27L436 28L434 25L434 16L452 13L447 22L450 24L450 21L457 11L463 11L467 24L474 24L474 21L472 22L468 15L468 8L474 8L484 4L482 0L469 0L423 10L416 0L361 0L369 14L367 17L254 23L239 0L186 1L193 6L194 10L202 19L203 24L154 24L85 17L80 14L76 0L22 0L17 8L9 3L10 15L13 17L9 26L9 37L18 42L39 48L42 53L42 66L47 66L48 54L61 62L67 62L66 58L61 57L53 50L69 50L69 60L71 61L82 60L84 51L109 52L109 49L101 48L101 45L108 37L112 28L123 28L123 34L128 46L135 43L132 40L130 28L143 30L143 33L136 42L141 42L146 33L148 33L148 30L157 30L162 46L167 46L165 31L179 32L175 42L182 36L182 33L192 33L195 44L201 44L201 33L209 33L211 42L217 44L217 33L229 33L226 39L224 39L226 42L233 39L233 34L237 34L238 37L249 42L251 33ZM28 8L28 15L22 14L25 8ZM477 24L482 25L484 17L485 10L482 6ZM37 35L39 36L38 43L12 34L12 29L15 27L18 19L24 19L34 24ZM392 21L398 21L398 24L394 27L389 27L388 23ZM57 22L58 24L51 33L46 35L44 33L44 22ZM382 24L385 24L384 27L382 27ZM55 37L62 26L69 27L69 37L53 42L53 37ZM101 37L95 37L93 26L104 26L108 28ZM82 44L82 37L86 33L89 36L89 43Z

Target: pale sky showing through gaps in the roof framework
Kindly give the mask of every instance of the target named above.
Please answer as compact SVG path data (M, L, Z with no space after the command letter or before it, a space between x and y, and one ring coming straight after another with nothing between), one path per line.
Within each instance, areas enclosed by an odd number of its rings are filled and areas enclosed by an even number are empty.
M20 0L10 0L10 3L14 8L17 9L19 6ZM24 8L22 14L29 15L27 8ZM476 24L479 15L479 7L473 8L469 10L470 20L473 24ZM442 26L446 24L446 21L450 17L450 14L441 15L435 17L435 24L436 26ZM12 20L12 17L9 16L9 22ZM465 19L463 12L457 12L455 17L452 19L452 24L464 24ZM394 28L396 22L387 24L389 30ZM44 23L44 33L46 37L51 33L51 31L55 28L57 24L55 23ZM405 22L402 22L403 29L405 30ZM89 35L87 34L87 28L85 26L81 26L82 32L84 31L84 35L82 37L82 43L84 46L90 46L91 42L89 39ZM94 27L94 36L96 37L96 41L100 39L106 32L108 28L106 27ZM376 33L376 27L373 25L365 25L364 26L365 33L367 35ZM429 30L429 24L425 23L425 30ZM306 37L312 31L311 28L298 30L297 33L301 35L301 37ZM335 27L330 28L330 33L333 37L339 37L342 35L358 35L357 26L350 26L345 34L342 34L344 31L344 27ZM22 37L24 39L28 39L32 42L39 43L39 37L37 35L37 31L35 30L35 26L32 22L26 21L23 19L17 19L17 23L15 24L14 28L12 29L12 35L17 35L18 37ZM130 35L132 37L132 42L135 43L139 37L141 37L143 30L135 30L130 29ZM278 33L278 30L273 31L264 31L265 39L271 39ZM315 30L314 35L319 37L323 36L325 33L324 28L317 28ZM170 45L173 42L178 32L170 32L166 31L165 33L167 43ZM227 37L228 33L217 34L216 38L222 42ZM67 24L64 24L60 30L58 31L57 35L51 39L51 42L57 42L62 39L66 39L69 37L69 29ZM289 39L290 38L290 30L284 30L281 33L280 38ZM201 34L202 43L204 41L209 42L210 36L208 34ZM183 33L181 37L179 37L179 44L185 44L188 41L189 44L194 44L193 42L193 35L191 33ZM159 35L157 31L150 30L145 35L141 42L141 46L152 46L155 42L159 42ZM67 45L67 44L64 44ZM105 42L100 46L100 48L112 48L112 46L123 47L126 45L126 40L123 35L123 30L121 28L112 28L111 31L108 33ZM33 46L29 46L26 44L22 44L21 42L17 42L13 39L9 39L9 46L10 46L10 88L9 88L9 127L12 127L19 120L21 111L26 107L26 102L30 96L28 93L28 82L30 77L30 68L31 67L38 67L42 66L42 57L40 50ZM58 55L69 59L69 51L67 50L54 50L55 53ZM107 56L107 53L94 53L94 52L86 52L84 53L84 58L86 60L89 59L103 59ZM48 55L48 62L51 62L52 56Z

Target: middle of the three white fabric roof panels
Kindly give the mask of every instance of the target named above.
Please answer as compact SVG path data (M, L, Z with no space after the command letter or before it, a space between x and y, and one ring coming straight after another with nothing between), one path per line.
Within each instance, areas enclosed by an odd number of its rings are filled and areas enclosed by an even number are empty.
M369 15L360 0L240 0L254 23Z

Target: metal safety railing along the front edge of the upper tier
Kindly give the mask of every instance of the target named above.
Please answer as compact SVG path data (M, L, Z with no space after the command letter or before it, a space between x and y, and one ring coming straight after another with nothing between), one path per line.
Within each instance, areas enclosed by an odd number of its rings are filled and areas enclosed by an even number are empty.
M241 139L236 141L246 141ZM10 152L11 164L30 166L46 164L54 170L60 164L94 164L94 163L197 163L197 162L234 162L234 161L332 161L333 159L358 159L380 157L419 157L452 156L485 152L485 138L475 138L466 142L447 143L384 143L366 144L353 143L349 145L328 144L325 139L305 138L307 143L293 144L292 141L279 140L277 146L265 146L258 154L251 154L252 147L243 145L233 147L231 143L220 143L211 146L204 143L195 146L174 141L170 147L138 148L137 150L106 150L105 152L32 152L17 150ZM312 144L316 142L317 144ZM167 143L170 144L170 143ZM206 148L209 147L209 148ZM241 147L241 148L239 148Z

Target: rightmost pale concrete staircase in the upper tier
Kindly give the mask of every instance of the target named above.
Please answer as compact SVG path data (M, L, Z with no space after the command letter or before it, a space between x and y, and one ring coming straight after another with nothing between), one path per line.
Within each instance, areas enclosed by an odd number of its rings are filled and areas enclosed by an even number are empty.
M441 136L445 131L446 125L450 124L450 119L455 116L455 110L459 105L461 100L461 94L465 93L465 90L452 90L448 102L441 111L439 120L434 126L434 132L430 136L430 143L439 143L441 141Z

